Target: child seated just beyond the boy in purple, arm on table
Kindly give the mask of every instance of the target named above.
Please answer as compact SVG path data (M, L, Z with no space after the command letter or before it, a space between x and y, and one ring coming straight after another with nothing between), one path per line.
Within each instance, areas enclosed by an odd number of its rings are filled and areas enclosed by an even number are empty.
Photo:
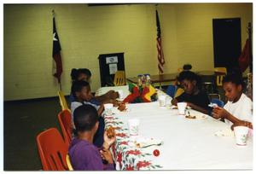
M104 110L104 104L115 102L112 99L106 100L102 103L91 102L91 99L93 98L93 96L90 92L90 84L84 80L79 80L79 81L73 82L72 93L73 93L73 96L75 96L75 101L71 103L72 117L73 117L74 110L77 107L84 105L84 104L89 104L89 105L95 107L98 115L101 116L102 112ZM75 127L75 126L73 125L73 127ZM99 117L99 129L98 129L98 131L96 131L96 136L94 138L94 144L97 147L102 146L104 128L105 128L104 119L102 117Z

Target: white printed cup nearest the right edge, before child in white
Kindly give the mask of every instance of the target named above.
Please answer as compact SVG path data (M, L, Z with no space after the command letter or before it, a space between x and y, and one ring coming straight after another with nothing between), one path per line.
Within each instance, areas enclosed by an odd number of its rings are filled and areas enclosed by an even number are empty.
M239 146L246 146L249 128L247 126L236 126L234 127L234 132L236 136L236 144Z

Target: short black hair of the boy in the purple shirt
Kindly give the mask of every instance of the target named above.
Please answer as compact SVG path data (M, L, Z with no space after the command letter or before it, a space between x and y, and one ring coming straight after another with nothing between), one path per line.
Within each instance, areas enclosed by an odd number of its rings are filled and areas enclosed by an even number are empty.
M76 134L84 131L90 131L98 121L98 113L95 107L84 104L77 107L73 112L73 123Z

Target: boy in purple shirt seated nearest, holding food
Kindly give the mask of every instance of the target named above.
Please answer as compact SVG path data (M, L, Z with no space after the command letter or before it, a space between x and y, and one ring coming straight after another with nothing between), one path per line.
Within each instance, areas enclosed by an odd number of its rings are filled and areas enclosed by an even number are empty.
M99 126L96 108L88 104L76 108L73 122L77 136L73 138L68 154L74 171L113 171L113 158L109 148L115 142L115 133L109 138L107 132L104 132L104 143L100 152L92 143ZM102 159L108 165L104 166Z

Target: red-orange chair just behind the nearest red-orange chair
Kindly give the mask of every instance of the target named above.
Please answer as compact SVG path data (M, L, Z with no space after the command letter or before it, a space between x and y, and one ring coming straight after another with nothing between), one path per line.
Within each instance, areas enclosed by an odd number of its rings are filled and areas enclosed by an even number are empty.
M72 140L72 117L69 110L63 110L58 114L59 123L61 125L62 135L64 136L64 142L69 146Z

